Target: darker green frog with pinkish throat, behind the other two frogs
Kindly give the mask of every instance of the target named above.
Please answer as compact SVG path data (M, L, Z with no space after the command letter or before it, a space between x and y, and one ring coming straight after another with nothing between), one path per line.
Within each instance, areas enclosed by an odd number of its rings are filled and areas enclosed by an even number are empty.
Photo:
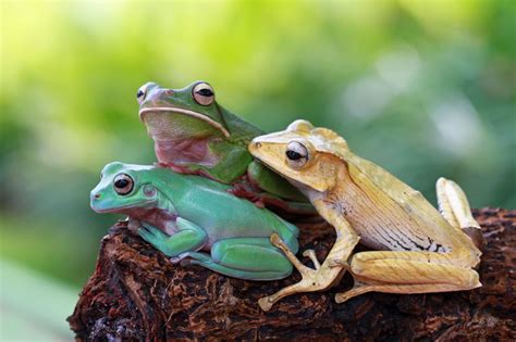
M265 131L220 105L208 83L169 89L150 81L136 98L160 166L232 185L230 192L259 206L315 212L296 188L253 160L247 145Z

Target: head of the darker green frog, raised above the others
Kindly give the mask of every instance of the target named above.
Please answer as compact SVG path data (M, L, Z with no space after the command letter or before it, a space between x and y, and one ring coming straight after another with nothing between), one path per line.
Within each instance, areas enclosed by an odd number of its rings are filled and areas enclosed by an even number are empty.
M213 88L196 81L183 89L161 88L147 83L138 89L139 117L155 139L229 138L223 109Z

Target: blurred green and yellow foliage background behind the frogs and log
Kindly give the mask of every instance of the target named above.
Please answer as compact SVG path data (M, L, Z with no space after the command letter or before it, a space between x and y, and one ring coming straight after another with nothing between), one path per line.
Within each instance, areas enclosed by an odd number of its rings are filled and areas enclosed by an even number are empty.
M433 202L445 176L515 208L515 3L2 1L0 339L70 338L116 218L89 191L108 162L155 161L148 80L207 80L267 131L331 127Z

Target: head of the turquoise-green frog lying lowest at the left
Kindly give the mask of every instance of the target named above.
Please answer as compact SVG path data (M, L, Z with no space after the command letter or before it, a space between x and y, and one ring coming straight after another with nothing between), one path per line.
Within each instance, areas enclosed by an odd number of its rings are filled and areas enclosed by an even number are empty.
M125 213L151 207L158 201L158 191L148 173L152 166L128 165L119 162L105 166L100 182L91 190L90 205L97 213Z

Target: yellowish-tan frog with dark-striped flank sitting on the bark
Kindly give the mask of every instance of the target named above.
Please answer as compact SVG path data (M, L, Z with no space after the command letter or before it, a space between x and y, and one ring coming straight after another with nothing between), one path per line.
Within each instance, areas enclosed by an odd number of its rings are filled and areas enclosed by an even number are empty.
M297 187L334 227L336 239L319 263L305 266L273 235L302 275L302 280L259 300L262 309L286 295L322 291L349 271L354 287L335 302L376 291L429 293L481 287L481 230L464 190L439 178L439 211L419 191L379 165L354 154L335 131L295 121L285 130L256 137L250 153ZM358 243L370 249L353 254Z

